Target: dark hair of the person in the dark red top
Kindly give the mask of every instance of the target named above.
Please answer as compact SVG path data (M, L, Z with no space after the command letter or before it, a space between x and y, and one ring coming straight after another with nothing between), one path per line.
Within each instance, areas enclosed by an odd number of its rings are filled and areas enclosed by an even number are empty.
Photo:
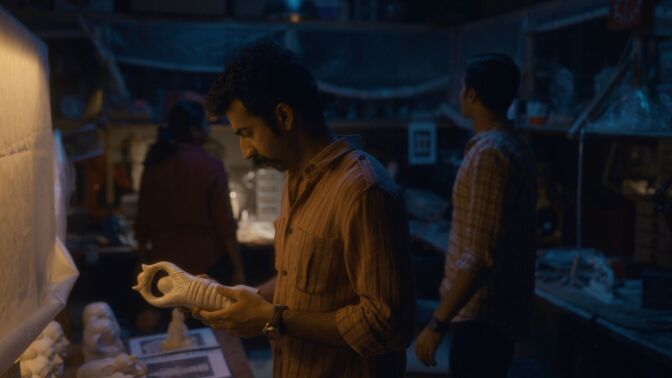
M180 101L168 110L166 125L159 127L156 142L145 157L145 165L158 164L177 152L178 143L192 143L191 129L203 127L205 111L194 101Z

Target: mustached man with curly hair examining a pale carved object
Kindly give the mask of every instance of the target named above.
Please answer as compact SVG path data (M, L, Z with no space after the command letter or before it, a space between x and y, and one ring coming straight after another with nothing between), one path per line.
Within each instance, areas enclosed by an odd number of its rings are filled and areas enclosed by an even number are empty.
M271 338L276 377L401 377L415 298L402 194L356 138L337 138L317 85L272 43L241 50L208 96L245 158L286 172L276 277L258 294L195 310L207 324Z

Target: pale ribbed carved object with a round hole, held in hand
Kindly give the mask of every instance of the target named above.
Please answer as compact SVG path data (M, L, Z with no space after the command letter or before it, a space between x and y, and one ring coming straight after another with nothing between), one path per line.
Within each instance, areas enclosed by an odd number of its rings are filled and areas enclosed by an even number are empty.
M159 279L157 286L163 296L152 294L154 277L160 271L168 273ZM149 304L156 307L186 307L206 311L223 310L232 302L217 294L221 285L209 278L195 277L177 267L175 264L161 261L152 265L142 265L142 272L138 275L138 284L133 290L140 292Z

